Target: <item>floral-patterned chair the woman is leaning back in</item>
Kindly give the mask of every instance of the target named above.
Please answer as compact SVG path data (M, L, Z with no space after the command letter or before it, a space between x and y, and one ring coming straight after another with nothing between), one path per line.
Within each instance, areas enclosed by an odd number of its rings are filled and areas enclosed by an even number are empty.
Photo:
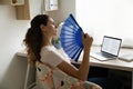
M37 62L37 89L102 89L93 82L70 77L49 65Z

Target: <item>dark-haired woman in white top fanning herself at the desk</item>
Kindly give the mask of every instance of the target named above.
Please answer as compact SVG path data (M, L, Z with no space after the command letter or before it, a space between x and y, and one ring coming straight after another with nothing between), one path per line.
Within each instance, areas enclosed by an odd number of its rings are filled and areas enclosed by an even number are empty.
M93 38L86 33L82 34L84 46L83 61L79 69L65 61L65 58L52 46L51 40L57 36L54 20L48 14L38 14L31 21L23 40L28 49L31 63L37 61L55 67L66 75L85 81L89 73L89 55ZM85 37L84 37L85 36Z

